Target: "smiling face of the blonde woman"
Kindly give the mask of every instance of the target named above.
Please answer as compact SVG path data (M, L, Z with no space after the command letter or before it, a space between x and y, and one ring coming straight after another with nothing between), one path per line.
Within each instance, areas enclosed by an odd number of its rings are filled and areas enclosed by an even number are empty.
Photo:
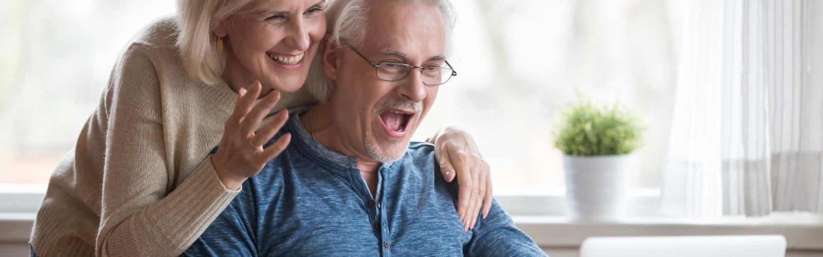
M223 79L238 89L264 87L295 91L303 86L326 33L325 0L255 0L251 15L232 16L214 29L224 37Z

